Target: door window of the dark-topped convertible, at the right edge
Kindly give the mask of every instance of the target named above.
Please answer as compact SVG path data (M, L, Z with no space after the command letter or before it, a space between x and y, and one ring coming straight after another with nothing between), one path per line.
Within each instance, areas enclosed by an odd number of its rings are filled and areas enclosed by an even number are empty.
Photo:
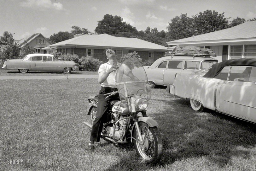
M256 82L256 67L232 66L229 81Z

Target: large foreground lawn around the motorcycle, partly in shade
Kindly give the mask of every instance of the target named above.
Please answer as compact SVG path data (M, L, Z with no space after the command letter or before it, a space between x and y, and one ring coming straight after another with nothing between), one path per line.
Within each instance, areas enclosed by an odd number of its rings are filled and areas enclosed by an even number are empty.
M255 170L251 124L211 110L195 112L185 100L152 89L148 115L158 122L164 151L145 164L131 144L101 140L86 151L83 121L97 79L0 80L0 170ZM7 164L22 159L23 164Z

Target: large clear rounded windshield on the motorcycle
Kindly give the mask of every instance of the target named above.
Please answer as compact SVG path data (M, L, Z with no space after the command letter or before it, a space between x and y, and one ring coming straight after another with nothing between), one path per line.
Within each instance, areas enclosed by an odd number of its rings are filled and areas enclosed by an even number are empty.
M147 74L135 58L128 58L119 66L115 81L121 100L127 100L128 97L151 98Z

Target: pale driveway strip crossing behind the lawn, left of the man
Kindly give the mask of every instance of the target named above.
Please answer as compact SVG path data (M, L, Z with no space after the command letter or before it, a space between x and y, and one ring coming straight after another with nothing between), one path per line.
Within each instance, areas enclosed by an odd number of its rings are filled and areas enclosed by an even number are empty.
M17 75L17 76L0 76L0 80L31 80L31 79L74 79L74 78L98 78L98 75L74 75L74 74L63 74L63 75L53 75L53 76L26 76L26 75Z

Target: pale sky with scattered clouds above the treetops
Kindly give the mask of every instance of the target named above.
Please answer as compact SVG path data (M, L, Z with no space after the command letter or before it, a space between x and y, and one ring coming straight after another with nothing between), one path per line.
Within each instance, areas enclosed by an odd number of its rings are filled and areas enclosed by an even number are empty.
M14 34L16 40L34 33L50 37L72 26L94 32L105 14L145 30L148 26L166 30L175 16L189 17L207 9L230 17L256 17L255 0L0 0L0 35Z

